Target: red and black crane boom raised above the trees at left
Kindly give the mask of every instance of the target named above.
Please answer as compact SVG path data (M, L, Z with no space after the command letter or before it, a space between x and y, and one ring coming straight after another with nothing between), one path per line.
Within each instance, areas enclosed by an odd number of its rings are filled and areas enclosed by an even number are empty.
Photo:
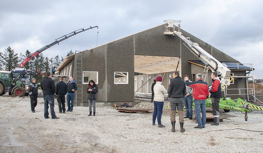
M74 35L76 35L76 34L79 34L79 33L83 32L83 31L86 31L86 30L89 30L89 29L93 29L93 28L96 28L96 27L99 28L98 26L95 26L95 27L90 27L90 28L87 28L87 29L84 29L84 28L83 28L83 29L79 29L79 30L73 31L72 33L69 33L69 34L67 34L67 35L64 35L64 36L56 39L53 43L44 46L43 48L37 50L36 52L34 52L34 53L32 53L32 54L29 54L28 57L26 57L26 59L24 59L24 60L19 64L19 67L20 67L20 68L24 67L24 66L27 64L27 62L30 61L30 60L32 60L35 56L37 56L38 54L40 54L40 53L43 52L44 50L47 50L47 49L49 49L50 47L52 47L52 46L54 46L54 45L56 45L56 44L59 44L61 41L66 40L66 39L68 39L69 37L74 36Z

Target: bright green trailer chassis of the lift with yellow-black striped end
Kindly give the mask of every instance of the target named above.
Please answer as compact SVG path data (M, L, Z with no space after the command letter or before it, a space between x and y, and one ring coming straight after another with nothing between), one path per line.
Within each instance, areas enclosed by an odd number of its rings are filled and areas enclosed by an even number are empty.
M170 106L167 106L167 109ZM206 99L206 107L212 107L211 98ZM193 103L193 108L195 108L195 104ZM249 102L245 102L244 100L237 98L232 100L230 98L220 98L219 108L224 109L225 112L229 112L230 110L240 111L245 114L245 121L247 121L247 113L250 113L252 109L263 111L262 107L256 106ZM185 108L184 108L185 111Z

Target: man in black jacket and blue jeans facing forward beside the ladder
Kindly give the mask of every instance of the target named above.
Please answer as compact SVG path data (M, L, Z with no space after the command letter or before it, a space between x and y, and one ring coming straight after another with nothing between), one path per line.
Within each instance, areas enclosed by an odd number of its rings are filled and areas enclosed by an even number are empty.
M75 97L75 91L76 90L77 90L77 84L73 80L73 77L70 76L69 77L69 82L67 84L67 104L68 104L67 112L72 112L73 111L74 97Z

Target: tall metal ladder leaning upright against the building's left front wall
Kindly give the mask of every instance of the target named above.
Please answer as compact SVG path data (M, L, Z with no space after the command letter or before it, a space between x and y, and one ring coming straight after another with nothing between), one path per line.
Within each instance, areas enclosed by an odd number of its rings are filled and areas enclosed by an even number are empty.
M79 52L77 54L77 52ZM75 51L75 82L77 84L76 93L76 105L77 103L82 103L83 93L82 93L82 52Z

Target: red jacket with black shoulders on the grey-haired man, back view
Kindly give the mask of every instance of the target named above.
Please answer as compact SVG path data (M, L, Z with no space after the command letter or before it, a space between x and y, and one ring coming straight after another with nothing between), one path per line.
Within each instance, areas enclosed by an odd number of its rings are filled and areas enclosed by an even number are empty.
M198 100L205 100L209 97L208 84L203 79L194 82L185 81L186 86L193 88L193 97Z

